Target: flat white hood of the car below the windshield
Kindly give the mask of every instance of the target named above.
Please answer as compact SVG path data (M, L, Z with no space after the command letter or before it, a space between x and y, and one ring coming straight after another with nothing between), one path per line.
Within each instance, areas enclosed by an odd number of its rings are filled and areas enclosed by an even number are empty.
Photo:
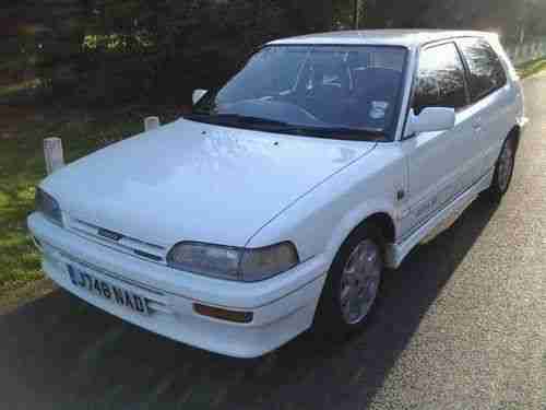
M245 246L275 215L375 145L180 119L83 157L41 188L70 220L146 243Z

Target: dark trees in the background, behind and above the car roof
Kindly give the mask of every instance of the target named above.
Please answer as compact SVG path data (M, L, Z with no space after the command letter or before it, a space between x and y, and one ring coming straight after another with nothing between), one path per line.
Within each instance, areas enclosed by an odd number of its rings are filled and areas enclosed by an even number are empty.
M189 101L188 87L218 85L268 40L332 28L546 35L544 0L22 0L13 10L39 27L24 49L44 83L76 84L79 101L102 105L154 94Z

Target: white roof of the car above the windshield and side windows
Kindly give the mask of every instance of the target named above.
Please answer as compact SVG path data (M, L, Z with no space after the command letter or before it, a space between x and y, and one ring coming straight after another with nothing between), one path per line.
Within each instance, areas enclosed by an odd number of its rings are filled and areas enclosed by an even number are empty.
M489 37L495 33L446 31L446 30L365 30L309 34L305 36L283 38L269 43L280 44L317 44L317 45L390 45L418 47L420 45L454 37Z

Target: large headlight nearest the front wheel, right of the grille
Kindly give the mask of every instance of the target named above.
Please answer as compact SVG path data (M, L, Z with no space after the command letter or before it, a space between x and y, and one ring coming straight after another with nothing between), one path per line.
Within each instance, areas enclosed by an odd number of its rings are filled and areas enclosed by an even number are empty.
M173 247L167 262L188 272L256 282L292 269L299 258L288 242L257 249L185 242Z

